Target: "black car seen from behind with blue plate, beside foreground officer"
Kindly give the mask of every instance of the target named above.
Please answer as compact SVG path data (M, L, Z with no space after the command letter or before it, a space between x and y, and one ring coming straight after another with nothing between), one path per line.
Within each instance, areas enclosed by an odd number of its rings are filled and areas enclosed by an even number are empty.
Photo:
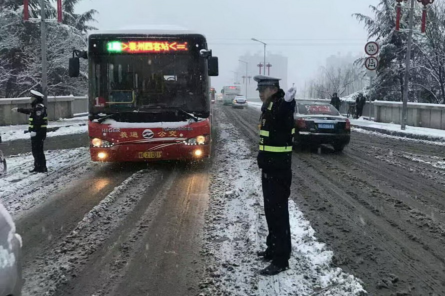
M320 144L329 144L339 152L349 144L349 119L330 104L297 102L294 119L296 146L318 147Z

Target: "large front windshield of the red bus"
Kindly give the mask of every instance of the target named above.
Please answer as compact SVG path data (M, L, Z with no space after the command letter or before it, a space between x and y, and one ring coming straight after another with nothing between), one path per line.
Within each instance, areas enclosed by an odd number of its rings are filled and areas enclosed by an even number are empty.
M112 113L175 107L205 114L209 108L205 66L204 59L189 54L94 56L92 108Z

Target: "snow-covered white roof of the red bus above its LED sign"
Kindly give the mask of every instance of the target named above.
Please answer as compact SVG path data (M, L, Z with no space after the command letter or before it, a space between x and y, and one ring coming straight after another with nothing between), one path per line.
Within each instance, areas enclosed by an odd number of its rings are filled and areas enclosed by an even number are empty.
M122 28L122 29L110 29L110 30L96 30L89 32L90 35L116 35L116 34L130 34L130 35L201 35L205 38L205 35L196 31L187 30L185 28L169 28L169 27L152 27L146 28Z

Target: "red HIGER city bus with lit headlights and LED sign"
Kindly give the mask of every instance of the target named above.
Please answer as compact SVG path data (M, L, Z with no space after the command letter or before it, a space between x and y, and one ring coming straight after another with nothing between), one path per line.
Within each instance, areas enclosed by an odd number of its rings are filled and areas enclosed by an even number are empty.
M211 153L209 76L218 75L203 35L111 30L88 36L93 161L192 160Z

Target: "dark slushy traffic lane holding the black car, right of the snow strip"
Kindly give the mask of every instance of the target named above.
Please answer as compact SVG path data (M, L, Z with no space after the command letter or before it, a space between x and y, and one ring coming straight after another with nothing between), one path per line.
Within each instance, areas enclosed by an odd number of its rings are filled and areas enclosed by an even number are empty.
M253 156L258 108L220 110ZM353 131L343 153L293 152L291 199L333 251L333 266L370 295L445 295L443 157L440 145Z

